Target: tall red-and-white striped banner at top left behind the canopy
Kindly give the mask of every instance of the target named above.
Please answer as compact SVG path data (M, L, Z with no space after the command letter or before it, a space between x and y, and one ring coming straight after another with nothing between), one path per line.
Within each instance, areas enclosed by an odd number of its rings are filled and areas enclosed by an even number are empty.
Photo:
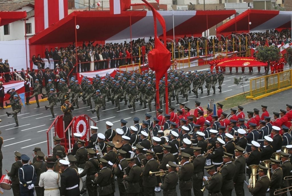
M68 15L68 0L37 0L34 3L35 33Z

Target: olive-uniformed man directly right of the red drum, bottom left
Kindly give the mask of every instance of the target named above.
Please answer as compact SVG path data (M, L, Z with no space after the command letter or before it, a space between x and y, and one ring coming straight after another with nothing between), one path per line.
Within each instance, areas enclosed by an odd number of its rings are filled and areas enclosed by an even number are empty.
M19 187L19 178L18 178L18 169L22 167L21 162L21 153L18 151L14 152L15 163L12 164L10 172L7 172L7 175L11 177L11 188L14 196L20 196L20 187Z

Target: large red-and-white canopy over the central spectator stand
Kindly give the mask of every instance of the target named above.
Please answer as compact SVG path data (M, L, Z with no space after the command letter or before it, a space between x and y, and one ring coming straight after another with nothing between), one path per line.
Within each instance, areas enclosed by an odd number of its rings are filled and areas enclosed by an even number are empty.
M167 36L199 35L235 14L235 10L159 11L166 22ZM173 20L174 18L174 20ZM126 11L111 15L109 11L75 11L29 39L30 45L72 43L75 19L79 25L77 42L84 40L121 40L154 35L151 11ZM131 26L131 31L130 31ZM158 27L158 34L162 29Z

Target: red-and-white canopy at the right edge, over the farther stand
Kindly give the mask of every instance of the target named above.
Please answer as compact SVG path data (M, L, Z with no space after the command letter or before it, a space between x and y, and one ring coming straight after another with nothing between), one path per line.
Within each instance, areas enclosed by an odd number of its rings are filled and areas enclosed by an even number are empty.
M217 34L248 33L267 29L290 29L291 11L246 10L217 28Z

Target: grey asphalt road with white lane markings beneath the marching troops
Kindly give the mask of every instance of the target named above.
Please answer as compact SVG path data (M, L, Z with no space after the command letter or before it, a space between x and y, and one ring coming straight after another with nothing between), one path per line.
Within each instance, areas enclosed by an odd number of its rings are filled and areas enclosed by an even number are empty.
M196 68L198 67L190 69L194 70ZM287 65L284 67L284 70L288 68L289 67ZM211 89L210 96L207 96L207 90L204 89L204 93L199 94L199 98L197 100L201 102L202 106L206 106L209 103L209 99L215 99L215 102L224 100L224 98L226 97L242 92L242 85L236 86L233 84L234 77L239 78L240 76L246 76L246 78L251 79L262 75L264 75L264 68L261 69L260 73L258 73L256 69L254 69L254 72L252 73L249 73L248 71L245 73L241 73L240 68L239 72L235 73L235 68L233 68L232 73L228 72L225 74L225 80L222 85L222 93L218 93L219 89L218 87L216 87L216 93L213 94L213 90ZM244 88L245 91L249 90L249 81L244 84ZM271 114L272 111L279 111L280 108L285 109L286 102L288 103L288 101L291 100L291 98L289 97L289 95L291 95L291 92L292 90L277 93L273 96L250 103L251 107L249 106L249 104L246 107L249 109L252 109L254 107L259 108L259 105L265 104L269 106L268 111ZM185 102L185 98L181 97L182 96L180 96L180 102L186 103L188 107L194 109L195 95L193 93L189 94L189 101L187 102ZM283 99L283 102L274 101L279 99ZM175 103L176 101L173 101L172 105L175 105ZM18 114L19 127L17 128L14 128L14 118L12 116L7 117L5 113L6 111L10 112L11 108L7 108L6 110L0 110L0 119L2 120L2 122L0 123L0 130L2 132L1 137L4 138L4 144L2 145L2 152L4 157L2 168L3 174L6 173L5 169L10 171L11 164L14 163L14 151L19 151L22 154L27 154L31 158L31 160L33 158L32 150L35 146L41 147L42 151L47 154L46 131L53 122L53 119L50 119L50 110L45 110L44 108L44 106L47 104L48 102L40 102L40 108L35 108L36 104L26 105L25 109L22 107L21 114ZM128 121L127 126L131 126L133 125L132 119L134 117L137 116L140 118L140 121L142 121L142 119L145 119L145 113L149 110L148 108L142 109L143 106L140 106L139 102L136 102L136 112L132 112L132 109L128 109L127 105L124 105L124 102L121 103L121 111L119 112L116 111L117 108L114 108L114 105L112 105L111 102L108 102L106 104L106 110L100 111L100 121L97 122L97 126L99 127L98 133L105 133L105 121L111 121L114 124L114 129L120 128L120 119L126 119ZM60 103L58 103L57 105L58 106L54 108L55 116L62 114L62 111L59 107ZM79 109L73 111L73 116L87 114L88 116L92 117L93 120L97 120L96 114L92 114L89 110L89 107L83 105L81 100L79 100L79 107ZM176 105L175 107L178 108L178 105ZM152 106L152 109L154 109L154 106ZM244 111L247 110L245 109ZM151 114L153 118L153 116L155 115L155 111L151 112ZM246 195L250 195L247 189L245 189L245 191L247 193ZM12 190L5 191L4 195L13 195ZM116 192L116 195L119 195L118 191ZM157 195L162 195L162 192L158 193ZM179 190L178 195L180 195ZM207 193L205 193L205 195L207 195Z

